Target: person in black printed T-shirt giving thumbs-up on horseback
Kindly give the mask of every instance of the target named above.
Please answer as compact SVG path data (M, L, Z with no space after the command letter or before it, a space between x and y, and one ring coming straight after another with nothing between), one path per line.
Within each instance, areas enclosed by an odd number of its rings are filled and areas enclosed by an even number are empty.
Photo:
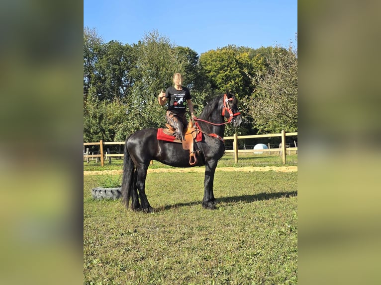
M163 92L163 89L161 90L158 100L161 106L164 106L165 102L169 100L166 113L167 124L176 130L176 139L182 141L184 140L183 128L188 126L186 118L187 104L192 118L194 117L192 97L189 89L182 85L183 75L181 73L173 74L173 83L174 86L168 87L165 92Z

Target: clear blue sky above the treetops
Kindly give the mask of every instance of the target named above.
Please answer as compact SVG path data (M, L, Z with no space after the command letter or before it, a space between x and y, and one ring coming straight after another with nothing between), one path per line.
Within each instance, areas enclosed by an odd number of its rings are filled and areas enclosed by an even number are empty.
M156 30L198 54L229 44L296 47L297 0L84 0L84 26L123 44Z

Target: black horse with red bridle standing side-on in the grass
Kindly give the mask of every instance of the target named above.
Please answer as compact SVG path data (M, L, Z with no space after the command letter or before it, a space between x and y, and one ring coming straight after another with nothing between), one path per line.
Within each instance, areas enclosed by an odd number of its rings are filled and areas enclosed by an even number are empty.
M195 119L196 126L202 132L202 140L195 144L200 149L201 156L197 166L205 165L202 207L206 209L214 209L217 203L213 194L213 180L218 159L225 152L225 124L232 123L238 127L242 123L237 103L236 97L229 92L219 95L214 97L204 107L199 118ZM184 150L181 143L157 140L157 132L157 129L144 129L126 139L121 192L127 208L132 199L132 210L153 212L145 194L147 169L151 160L175 167L191 167L189 150Z

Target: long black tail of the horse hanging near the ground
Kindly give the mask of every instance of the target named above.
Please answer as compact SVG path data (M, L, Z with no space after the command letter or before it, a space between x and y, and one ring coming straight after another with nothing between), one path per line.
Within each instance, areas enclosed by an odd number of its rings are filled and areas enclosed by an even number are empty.
M127 141L128 141L128 138L124 146L123 177L122 177L122 186L120 190L123 197L123 203L126 206L126 208L128 208L130 204L130 199L134 195L134 188L136 183L135 175L134 175L135 165L131 159L130 153L128 152Z

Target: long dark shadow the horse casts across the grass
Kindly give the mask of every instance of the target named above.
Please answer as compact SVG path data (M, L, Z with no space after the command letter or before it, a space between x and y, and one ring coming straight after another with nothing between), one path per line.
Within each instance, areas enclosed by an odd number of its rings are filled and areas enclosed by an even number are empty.
M297 196L297 191L290 191L290 192L277 192L277 193L260 193L256 195L242 195L242 196L232 196L232 197L220 197L217 199L218 203L237 203L237 202L244 202L244 203L252 203L255 201L261 201L261 200L272 200L272 199L279 199L279 198L289 198ZM154 212L161 212L166 210L171 210L174 208L179 207L191 207L195 205L201 205L201 201L199 202L188 202L188 203L177 203L173 205L167 205L162 206L159 208L155 208ZM217 204L218 208L218 204Z

